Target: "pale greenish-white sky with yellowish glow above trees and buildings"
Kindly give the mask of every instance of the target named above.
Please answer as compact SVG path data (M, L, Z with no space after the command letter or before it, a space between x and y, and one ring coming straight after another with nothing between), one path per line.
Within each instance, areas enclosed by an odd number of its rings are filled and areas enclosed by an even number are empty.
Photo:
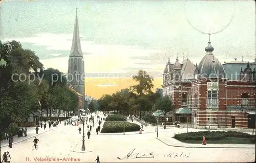
M209 32L221 63L255 58L254 1L2 1L0 39L19 41L45 68L67 73L76 7L86 78L102 79L95 87L119 89L104 79L139 69L162 78L168 57L199 63Z

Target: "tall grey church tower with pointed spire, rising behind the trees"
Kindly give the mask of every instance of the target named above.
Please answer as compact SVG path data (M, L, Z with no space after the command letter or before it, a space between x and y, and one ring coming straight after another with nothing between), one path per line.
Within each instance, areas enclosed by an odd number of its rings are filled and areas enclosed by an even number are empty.
M68 85L71 84L83 96L82 99L84 99L84 61L80 44L77 9L67 78Z

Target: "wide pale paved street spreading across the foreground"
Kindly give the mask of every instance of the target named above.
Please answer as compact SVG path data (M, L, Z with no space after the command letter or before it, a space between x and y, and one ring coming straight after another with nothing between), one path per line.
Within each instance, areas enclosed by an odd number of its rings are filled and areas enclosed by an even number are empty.
M82 128L82 124L79 126ZM86 153L79 153L82 146L82 134L79 134L79 127L64 126L62 123L53 130L36 136L40 140L38 150L31 150L33 138L30 138L13 145L12 149L3 147L1 151L10 152L11 162L42 162L40 159L35 159L51 157L55 159L73 158L66 162L94 162L97 155L101 162L245 162L253 161L255 155L254 149L220 148L217 150L216 148L170 147L156 138L154 127L144 127L143 134L133 132L133 134L125 133L125 135L122 133L96 135L95 127L98 127L97 122L95 122L90 139L85 135ZM183 130L185 131L185 129L172 128L163 131L159 128L159 139L166 139L168 136L173 136L176 131L183 132ZM87 130L85 130L86 133ZM134 148L134 152L129 156L128 153ZM143 154L151 158L135 158L136 155L140 157ZM62 160L48 160L47 162L60 161Z

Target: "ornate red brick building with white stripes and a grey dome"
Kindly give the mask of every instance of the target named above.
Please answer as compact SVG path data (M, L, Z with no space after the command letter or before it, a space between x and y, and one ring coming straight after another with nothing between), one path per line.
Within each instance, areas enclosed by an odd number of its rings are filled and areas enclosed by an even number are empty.
M221 64L210 41L205 51L199 64L188 58L180 63L178 56L166 64L163 96L173 101L173 120L195 128L254 127L255 63L235 58Z

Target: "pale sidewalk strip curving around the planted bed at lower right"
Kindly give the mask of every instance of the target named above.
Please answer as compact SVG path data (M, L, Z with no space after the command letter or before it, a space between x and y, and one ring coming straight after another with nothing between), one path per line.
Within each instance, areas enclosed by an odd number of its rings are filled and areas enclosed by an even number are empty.
M157 137L157 139L166 144L167 146L172 147L182 147L182 148L249 148L249 149L255 149L255 144L207 144L203 146L201 142L198 144L188 144L188 143L182 143L178 141L177 139L170 137L170 136L163 136L163 137Z

